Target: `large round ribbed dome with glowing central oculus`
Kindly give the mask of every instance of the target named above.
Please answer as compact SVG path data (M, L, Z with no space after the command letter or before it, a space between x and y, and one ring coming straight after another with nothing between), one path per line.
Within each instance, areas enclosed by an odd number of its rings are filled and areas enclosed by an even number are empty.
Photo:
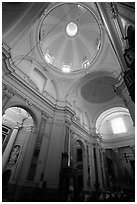
M65 72L87 69L99 53L101 30L91 10L77 3L56 5L40 26L45 61Z

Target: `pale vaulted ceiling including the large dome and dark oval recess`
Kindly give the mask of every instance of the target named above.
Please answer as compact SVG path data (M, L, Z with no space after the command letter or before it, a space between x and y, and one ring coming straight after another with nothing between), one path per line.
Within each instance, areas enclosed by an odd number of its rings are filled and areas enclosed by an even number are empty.
M47 80L52 96L75 101L90 123L109 108L125 107L113 91L122 69L93 2L3 3L2 20L16 73L41 93Z

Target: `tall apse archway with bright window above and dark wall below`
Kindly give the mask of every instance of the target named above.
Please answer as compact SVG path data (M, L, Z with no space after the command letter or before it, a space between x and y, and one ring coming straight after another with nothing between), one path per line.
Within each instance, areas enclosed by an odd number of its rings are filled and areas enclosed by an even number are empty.
M134 148L131 148L134 147L135 128L128 109L113 107L105 110L96 120L95 127L103 141L103 172L107 188L126 188L125 169L128 169L134 180L131 163L135 161ZM129 184L132 188L131 181Z

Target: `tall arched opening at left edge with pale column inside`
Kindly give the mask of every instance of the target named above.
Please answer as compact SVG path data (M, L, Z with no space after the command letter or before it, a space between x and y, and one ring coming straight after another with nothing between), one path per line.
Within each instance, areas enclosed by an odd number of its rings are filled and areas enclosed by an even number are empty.
M3 137L3 157L2 169L7 168L16 173L15 166L18 166L20 160L25 158L30 136L34 131L34 119L21 107L10 107L5 111L2 117L2 137ZM24 145L25 144L25 145ZM19 169L18 172L22 171Z

